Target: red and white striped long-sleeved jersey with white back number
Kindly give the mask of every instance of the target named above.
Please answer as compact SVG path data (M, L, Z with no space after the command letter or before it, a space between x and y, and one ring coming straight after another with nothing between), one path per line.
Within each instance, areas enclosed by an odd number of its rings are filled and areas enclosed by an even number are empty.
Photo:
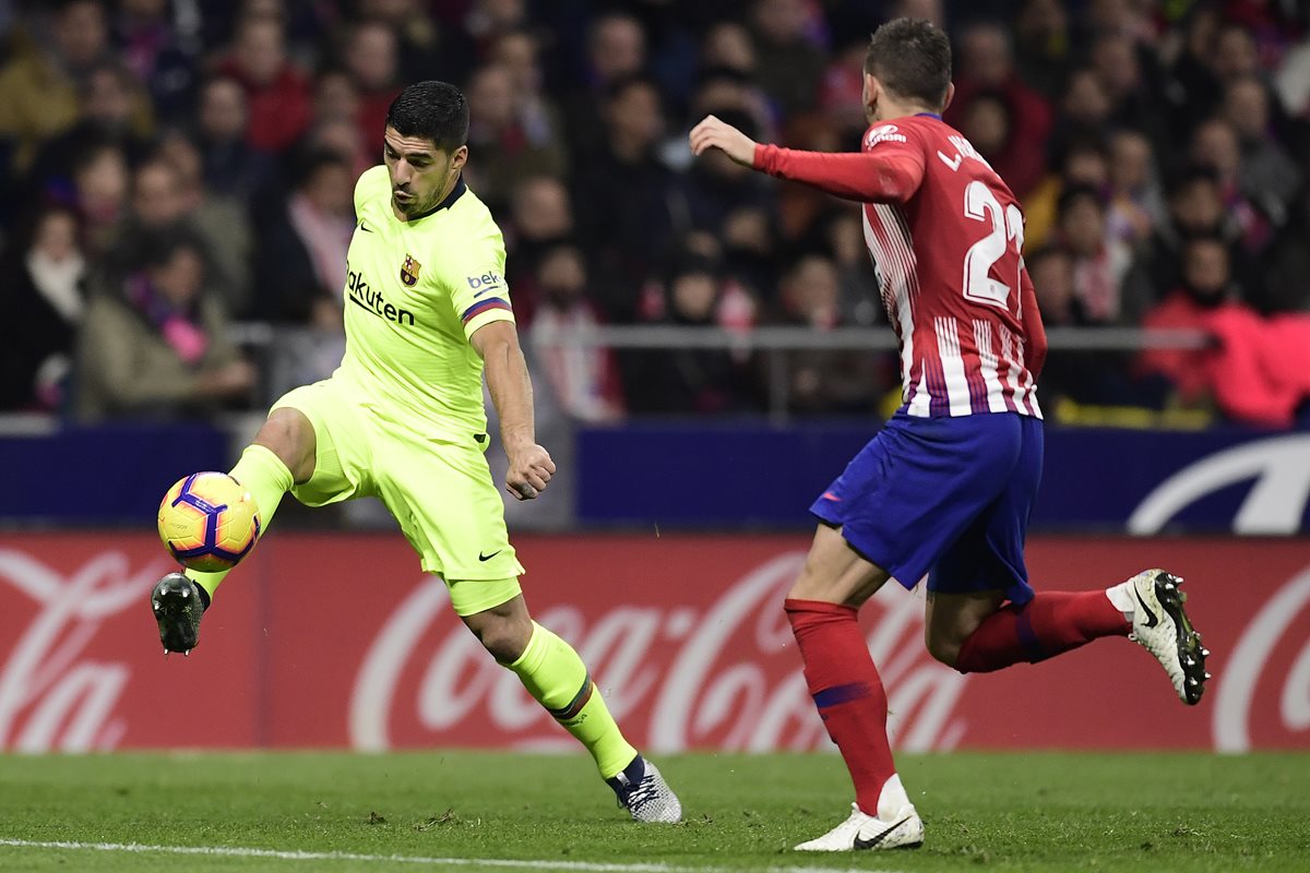
M1023 211L964 136L922 114L874 124L858 154L765 145L755 164L863 202L907 414L1041 418L1045 331L1023 266Z

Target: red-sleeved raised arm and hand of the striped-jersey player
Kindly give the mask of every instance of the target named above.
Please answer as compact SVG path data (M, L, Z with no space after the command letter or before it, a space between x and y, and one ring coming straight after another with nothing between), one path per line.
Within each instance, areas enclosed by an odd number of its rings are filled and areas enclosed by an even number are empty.
M752 170L861 203L903 203L924 181L924 158L914 151L831 153L761 145L714 115L692 128L690 144L693 154L717 148Z

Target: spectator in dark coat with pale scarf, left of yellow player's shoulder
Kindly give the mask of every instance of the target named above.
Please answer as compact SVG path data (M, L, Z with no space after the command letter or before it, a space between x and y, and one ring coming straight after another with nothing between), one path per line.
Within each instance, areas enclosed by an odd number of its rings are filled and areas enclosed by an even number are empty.
M334 152L304 156L296 168L295 191L259 223L254 313L339 330L346 253L355 232L355 177Z

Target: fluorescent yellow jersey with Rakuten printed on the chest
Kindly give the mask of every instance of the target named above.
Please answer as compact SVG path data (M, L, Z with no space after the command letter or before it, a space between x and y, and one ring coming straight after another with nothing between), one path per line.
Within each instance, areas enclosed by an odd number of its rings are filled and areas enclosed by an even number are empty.
M337 377L376 412L427 436L464 441L486 431L482 359L469 344L514 321L504 238L461 179L432 212L401 221L385 166L355 185L346 264L346 355Z

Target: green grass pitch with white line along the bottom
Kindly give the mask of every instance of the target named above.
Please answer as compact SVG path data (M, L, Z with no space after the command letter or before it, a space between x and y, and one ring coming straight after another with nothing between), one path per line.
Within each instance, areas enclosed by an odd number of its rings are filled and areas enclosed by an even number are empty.
M837 855L786 851L849 811L836 755L656 760L683 825L579 755L0 755L0 870L1310 870L1307 754L903 755L927 843Z

